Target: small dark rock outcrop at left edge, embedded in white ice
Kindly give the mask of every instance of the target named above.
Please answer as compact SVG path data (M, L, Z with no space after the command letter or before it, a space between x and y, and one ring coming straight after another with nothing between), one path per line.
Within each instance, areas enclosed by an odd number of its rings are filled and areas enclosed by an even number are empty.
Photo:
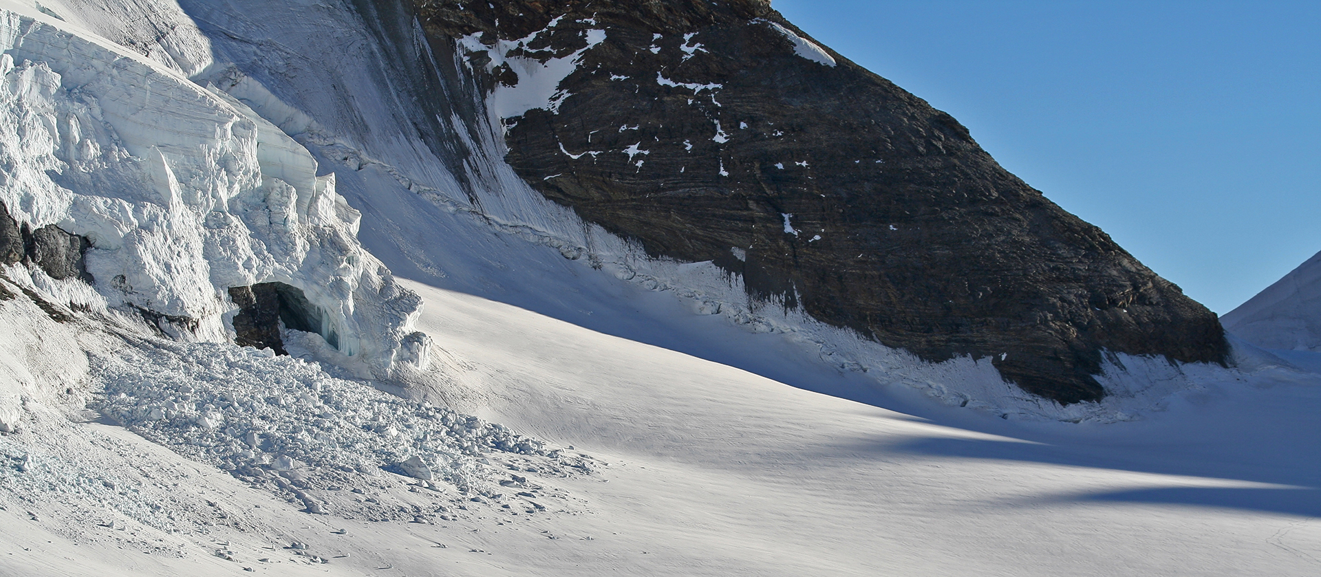
M91 248L86 236L65 232L54 224L32 230L9 215L0 202L0 263L41 267L52 279L82 279L92 283L83 256Z

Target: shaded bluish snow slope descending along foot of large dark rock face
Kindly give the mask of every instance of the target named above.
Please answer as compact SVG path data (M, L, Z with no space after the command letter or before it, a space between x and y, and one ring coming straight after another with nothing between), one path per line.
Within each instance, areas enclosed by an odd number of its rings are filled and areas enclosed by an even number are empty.
M849 399L901 386L993 415L1119 420L1192 383L1164 360L1110 355L1098 380L1111 400L1061 407L1007 384L988 358L926 363L752 300L741 277L711 263L649 257L514 174L501 121L460 46L429 42L407 3L310 3L292 18L291 4L252 0L44 5L292 135L362 213L363 246L410 279ZM823 386L783 358L815 359L851 384Z

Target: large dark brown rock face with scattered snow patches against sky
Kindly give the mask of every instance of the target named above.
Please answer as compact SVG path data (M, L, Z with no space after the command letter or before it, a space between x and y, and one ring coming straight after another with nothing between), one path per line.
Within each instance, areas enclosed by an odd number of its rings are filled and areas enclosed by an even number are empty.
M828 49L835 66L795 53L806 34L769 3L415 4L435 45L480 33L491 46L553 21L507 54L543 62L605 30L556 111L505 120L506 160L653 255L713 261L754 296L929 360L989 356L1061 403L1104 395L1092 375L1107 350L1226 359L1213 313L947 114ZM487 90L526 81L468 58Z

